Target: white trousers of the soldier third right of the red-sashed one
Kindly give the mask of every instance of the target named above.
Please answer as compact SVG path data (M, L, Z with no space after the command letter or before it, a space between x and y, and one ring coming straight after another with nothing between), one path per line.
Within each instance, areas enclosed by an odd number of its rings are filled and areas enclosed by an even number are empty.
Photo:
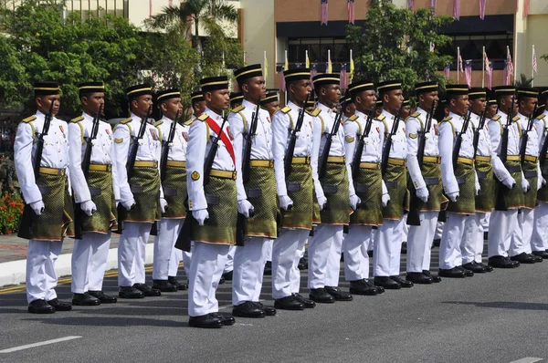
M339 285L342 238L342 225L321 224L316 227L314 236L309 240L309 288ZM337 264L333 262L330 264L330 258L337 259ZM336 271L333 271L335 269ZM334 285L327 283L328 275L331 277L330 282Z

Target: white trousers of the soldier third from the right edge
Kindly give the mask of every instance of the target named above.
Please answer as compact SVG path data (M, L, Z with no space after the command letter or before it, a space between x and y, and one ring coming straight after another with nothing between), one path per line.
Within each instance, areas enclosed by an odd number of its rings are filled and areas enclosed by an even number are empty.
M493 211L490 216L487 256L508 256L511 233L517 227L518 210Z

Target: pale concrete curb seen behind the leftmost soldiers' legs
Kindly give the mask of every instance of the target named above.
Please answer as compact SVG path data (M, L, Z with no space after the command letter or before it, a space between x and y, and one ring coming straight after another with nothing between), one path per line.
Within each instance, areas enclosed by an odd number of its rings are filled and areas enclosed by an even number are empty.
M146 244L145 264L153 263L154 244ZM55 270L58 277L72 275L71 270L72 254L60 254L55 264ZM106 271L118 269L118 248L109 250ZM0 264L0 287L5 285L25 284L26 260L9 261Z

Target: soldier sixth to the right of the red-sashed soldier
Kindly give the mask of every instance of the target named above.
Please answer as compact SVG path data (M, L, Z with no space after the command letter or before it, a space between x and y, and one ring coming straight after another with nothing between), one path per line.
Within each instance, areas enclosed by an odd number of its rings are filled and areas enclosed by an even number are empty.
M437 119L428 120L432 109L437 106L437 83L422 82L415 85L418 108L406 119L407 134L407 168L409 170L411 186L415 189L417 200L416 211L418 221L411 221L407 216L407 223L418 222L419 225L409 225L407 235L407 266L406 280L415 284L432 284L441 281L437 275L430 273L430 251L434 234L436 233L437 214L447 207L447 199L443 196L441 186L441 169L439 167L439 150L437 149ZM425 130L427 122L430 129ZM417 159L419 132L425 133L425 145L422 163ZM415 214L416 215L416 214Z

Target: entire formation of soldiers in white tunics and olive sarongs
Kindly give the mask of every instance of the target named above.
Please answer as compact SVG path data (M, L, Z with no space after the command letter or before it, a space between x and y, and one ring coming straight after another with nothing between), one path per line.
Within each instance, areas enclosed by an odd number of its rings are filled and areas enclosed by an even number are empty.
M26 201L23 220L30 227L19 231L30 240L29 311L71 308L55 293L54 264L63 237L75 233L73 304L116 301L102 292L102 278L111 231L119 229L119 296L159 296L183 287L174 279L183 258L192 327L228 326L234 316L350 301L352 295L374 296L548 255L543 192L535 209L537 190L545 183L539 155L546 129L544 114L532 119L537 89L520 88L516 98L514 88L496 88L488 105L485 89L449 85L445 104L437 107L437 84L423 82L415 87L418 108L404 120L400 81L376 88L370 81L354 82L341 99L338 75L311 80L309 69L284 75L289 102L275 113L260 107L270 107L277 97L266 97L259 65L235 72L243 101L229 113L228 79L202 79L201 93L193 97L196 117L184 125L176 123L182 112L179 90L158 93L163 119L154 121L152 89L134 86L127 90L132 117L113 131L100 120L102 83L79 86L83 113L68 126L54 117L58 85L37 84L37 114L20 124L15 145ZM305 111L311 83L318 105ZM434 117L436 107L443 116ZM439 275L433 275L430 249L440 211L447 222ZM490 228L485 265L487 213L497 228ZM153 225L151 287L145 284L144 262ZM300 296L298 270L307 242L310 298ZM338 287L342 253L350 294ZM234 316L218 313L216 300L231 254ZM270 255L274 307L258 301Z

